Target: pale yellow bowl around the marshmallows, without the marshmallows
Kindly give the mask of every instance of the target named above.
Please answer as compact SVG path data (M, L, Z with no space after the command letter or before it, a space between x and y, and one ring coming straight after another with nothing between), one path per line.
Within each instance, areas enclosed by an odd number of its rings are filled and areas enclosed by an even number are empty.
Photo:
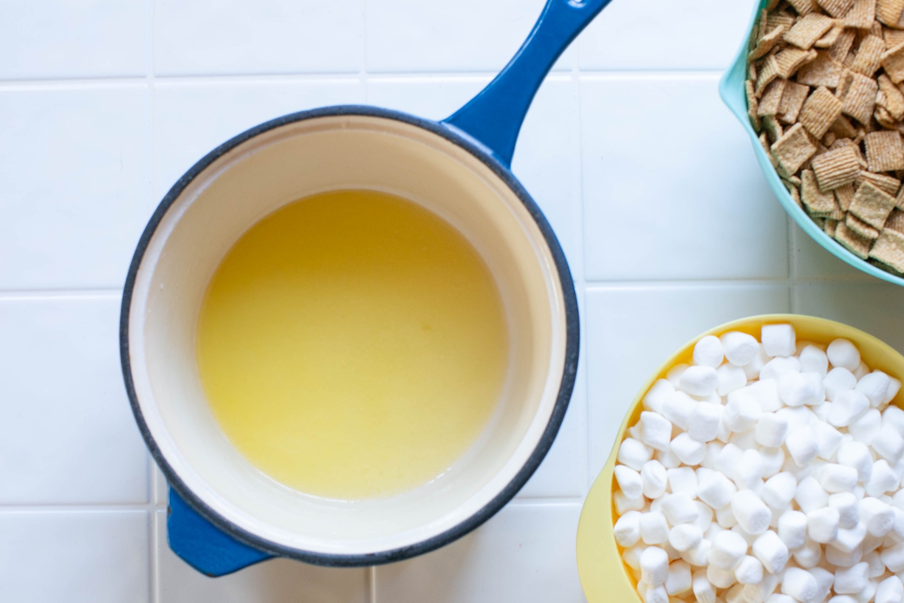
M636 399L622 421L618 430L616 443L606 462L606 466L600 472L587 500L580 513L578 524L578 573L584 594L589 603L602 603L604 601L640 601L637 595L636 580L628 573L626 565L621 559L621 551L618 550L615 536L612 532L615 508L612 503L614 485L613 468L616 465L618 446L626 437L629 425L636 423L643 410L641 400L646 391L657 379L662 379L671 367L678 363L690 363L693 346L702 337L707 335L720 335L729 331L740 331L752 334L759 339L760 329L763 325L776 323L790 323L794 325L798 341L810 341L816 344L829 344L833 339L845 337L850 339L859 349L864 363L871 369L887 372L891 376L901 379L904 375L904 356L894 350L889 344L885 344L871 334L863 333L852 326L842 325L824 318L815 316L798 316L792 314L776 314L767 316L751 316L741 318L725 325L717 326L706 333L694 338L688 344L683 345L669 358L659 370L654 373ZM892 403L904 406L904 389Z

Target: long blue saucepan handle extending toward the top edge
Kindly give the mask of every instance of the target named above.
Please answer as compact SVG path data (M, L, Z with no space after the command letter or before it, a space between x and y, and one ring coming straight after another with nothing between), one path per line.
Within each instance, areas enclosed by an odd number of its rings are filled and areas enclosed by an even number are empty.
M511 167L527 109L562 52L612 0L549 0L512 61L443 124L485 146Z

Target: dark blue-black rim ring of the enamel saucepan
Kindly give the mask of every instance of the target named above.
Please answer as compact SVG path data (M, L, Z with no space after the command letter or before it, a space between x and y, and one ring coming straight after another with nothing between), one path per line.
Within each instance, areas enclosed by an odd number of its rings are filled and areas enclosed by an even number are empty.
M160 221L163 220L165 213L169 210L173 203L175 203L176 199L178 199L179 195L183 193L184 189L189 184L191 184L192 181L209 165L211 165L214 161L221 157L221 155L226 154L227 152L231 151L231 149L239 146L240 144L250 140L253 137L259 136L260 134L268 132L269 130L272 130L274 128L286 126L298 121L337 116L364 116L372 118L394 119L396 121L410 124L412 126L421 127L425 130L428 130L429 132L432 132L433 134L438 135L439 137L447 139L457 146L460 146L471 155L474 155L484 165L489 167L490 170L492 170L493 173L496 174L513 191L513 193L518 196L518 198L524 204L524 207L531 214L533 221L536 222L537 227L540 229L543 235L543 238L546 240L546 244L549 246L552 259L555 262L556 271L559 274L562 287L562 296L564 297L566 320L565 363L562 371L559 393L555 406L552 409L550 420L546 425L546 429L543 430L540 441L537 443L536 448L533 449L531 456L528 457L527 462L513 477L512 481L505 485L502 491L500 491L498 495L495 495L493 500L485 504L483 508L468 517L465 521L457 523L457 525L448 529L446 532L439 533L436 536L428 538L427 540L417 542L409 546L400 547L398 549L354 555L332 553L327 554L315 551L304 551L286 547L275 542L270 542L224 519L223 517L221 517L221 515L215 513L207 504L204 504L204 502L198 496L194 495L192 490L184 484L182 479L178 475L176 475L173 468L169 466L163 454L160 452L160 449L157 447L154 436L151 435L150 430L147 429L147 424L145 422L144 416L142 415L141 408L138 405L135 384L132 381L132 371L128 353L128 317L138 268L141 265L141 260L144 258L145 252L147 250L147 245L153 237L157 226L160 224ZM518 181L517 178L514 177L512 172L506 169L504 165L496 160L494 156L491 155L487 151L487 149L485 149L485 147L481 146L479 143L476 143L476 141L469 137L462 136L459 132L453 130L452 128L445 127L435 121L417 118L400 111L393 111L390 109L363 105L341 105L336 107L315 108L312 110L291 113L281 118L271 119L263 124L260 124L259 126L252 127L249 130L242 132L240 135L231 138L221 146L217 146L210 153L205 155L200 161L198 161L198 163L193 165L192 168L188 170L188 172L183 174L183 176L179 178L178 181L176 181L169 192L166 193L163 201L160 202L160 204L157 206L156 211L151 216L150 221L148 221L145 231L141 235L141 239L138 240L135 255L133 256L132 263L128 269L126 284L123 290L122 307L119 315L119 355L120 361L122 363L122 373L123 379L126 383L128 399L132 407L132 412L135 415L138 429L141 431L142 437L145 438L147 448L150 450L151 456L154 457L157 466L159 466L161 471L163 471L166 480L169 482L169 485L173 487L174 490L180 496L182 496L188 504L191 504L193 509L200 513L202 517L210 521L222 532L225 532L232 538L235 538L240 542L244 542L256 549L259 549L260 551L266 551L279 557L287 557L298 561L306 561L307 563L330 567L363 567L369 565L379 565L383 563L391 563L393 561L410 559L411 557L416 557L423 553L434 551L439 547L456 541L457 539L466 535L468 532L475 530L481 524L489 520L500 509L502 509L505 504L512 500L514 495L516 495L518 491L521 490L523 485L527 483L527 480L530 479L530 477L536 471L537 467L540 466L543 458L546 456L546 453L549 452L549 449L552 446L552 442L555 440L556 435L559 432L562 419L565 418L565 411L568 410L569 401L571 399L571 391L574 388L574 382L576 374L578 372L580 345L579 338L580 333L578 299L575 295L574 282L571 279L568 260L565 259L565 254L561 250L559 240L556 238L555 233L552 231L549 222L546 221L546 217L543 215L537 204L534 203L531 195L527 193L523 185Z

